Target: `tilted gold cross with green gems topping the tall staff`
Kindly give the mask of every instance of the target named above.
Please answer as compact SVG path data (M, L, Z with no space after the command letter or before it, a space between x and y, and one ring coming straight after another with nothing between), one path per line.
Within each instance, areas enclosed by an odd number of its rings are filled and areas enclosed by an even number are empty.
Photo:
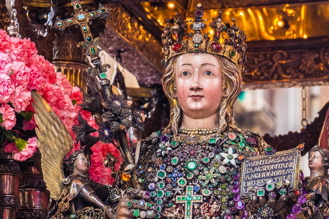
M92 38L88 23L90 20L98 17L107 17L110 9L99 5L97 10L88 12L88 10L84 11L82 9L79 0L71 0L71 2L75 12L73 17L67 18L65 20L58 18L55 22L54 28L63 31L65 27L69 27L75 24L79 25L85 42L80 42L77 46L83 46L83 48L87 50L86 54L90 56L91 62L94 63L94 60L99 59L98 54L100 49L97 48L99 37L96 37L95 39Z

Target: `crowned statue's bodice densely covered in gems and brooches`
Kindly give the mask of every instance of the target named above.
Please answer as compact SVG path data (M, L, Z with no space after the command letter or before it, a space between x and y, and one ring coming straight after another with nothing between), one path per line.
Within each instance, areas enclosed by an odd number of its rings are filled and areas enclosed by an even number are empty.
M240 164L267 151L268 145L250 131L228 128L219 136L176 137L158 131L142 146L144 189L157 205L158 218L244 218Z

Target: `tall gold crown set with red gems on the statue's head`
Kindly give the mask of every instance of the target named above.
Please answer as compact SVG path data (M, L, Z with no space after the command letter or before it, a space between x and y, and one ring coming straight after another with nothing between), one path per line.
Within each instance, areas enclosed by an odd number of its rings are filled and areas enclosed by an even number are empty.
M204 32L204 29L207 27L205 23L207 19L202 19L204 14L202 4L198 3L196 7L197 10L194 12L195 18L193 20L184 21L177 12L177 18L173 17L174 25L170 27L170 20L167 19L167 26L164 28L164 33L161 36L162 52L164 53L162 64L167 66L172 57L180 54L205 52L226 57L244 72L242 63L246 60L245 51L247 44L245 39L247 37L236 26L235 19L232 19L232 25L227 22L222 23L222 12L219 12L218 16L213 18L213 21L209 24L214 31L213 39L210 41L210 34ZM190 22L192 32L185 33L188 27L187 23ZM227 35L227 37L225 38L224 35ZM220 37L224 39L223 43L220 42Z

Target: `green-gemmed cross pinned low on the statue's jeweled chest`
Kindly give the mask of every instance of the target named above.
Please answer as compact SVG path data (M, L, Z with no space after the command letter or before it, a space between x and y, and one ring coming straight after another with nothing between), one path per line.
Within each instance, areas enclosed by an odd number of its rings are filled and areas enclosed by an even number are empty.
M193 186L188 185L185 195L176 195L175 202L185 204L184 219L192 219L193 203L202 203L202 195L193 195Z

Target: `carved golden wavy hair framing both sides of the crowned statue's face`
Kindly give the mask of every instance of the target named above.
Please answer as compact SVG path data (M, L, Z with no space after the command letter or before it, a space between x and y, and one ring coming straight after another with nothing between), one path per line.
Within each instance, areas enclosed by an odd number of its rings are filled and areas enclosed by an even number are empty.
M242 132L242 130L236 127L233 118L233 104L237 100L242 88L241 70L227 58L214 56L219 62L222 73L223 91L227 94L227 96L222 98L218 110L219 129L217 134L223 132L228 126ZM181 108L178 99L174 97L174 93L176 92L175 66L178 57L174 57L169 61L162 77L162 87L170 104L170 122L164 129L164 133L172 131L174 136L178 133L178 126L181 119Z

